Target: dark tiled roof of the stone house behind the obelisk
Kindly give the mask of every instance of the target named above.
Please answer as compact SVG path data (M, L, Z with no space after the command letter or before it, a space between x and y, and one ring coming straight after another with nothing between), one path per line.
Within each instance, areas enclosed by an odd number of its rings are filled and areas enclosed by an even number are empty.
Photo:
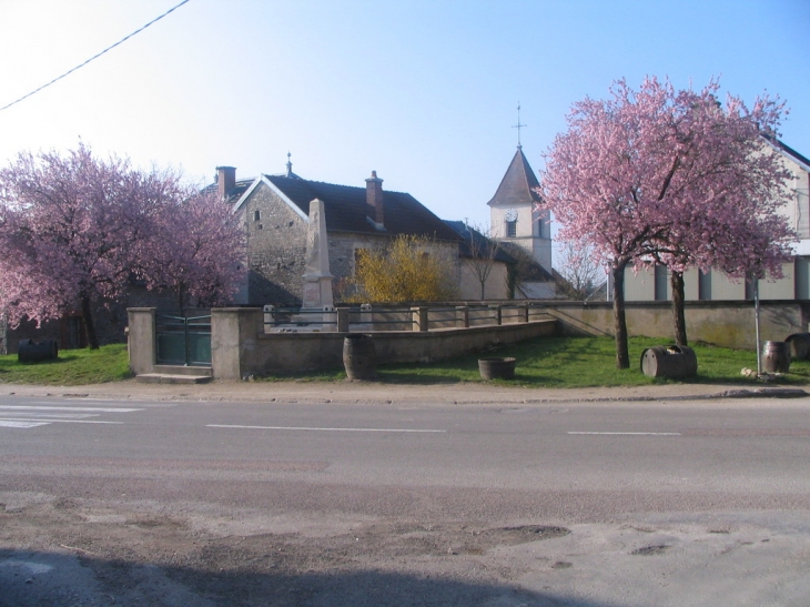
M283 175L264 175L302 212L308 215L310 201L324 202L326 230L331 232L356 232L366 234L415 234L445 241L459 241L454 230L427 210L411 194L383 190L385 230L377 230L368 217L374 209L366 203L366 189L352 185L336 185Z

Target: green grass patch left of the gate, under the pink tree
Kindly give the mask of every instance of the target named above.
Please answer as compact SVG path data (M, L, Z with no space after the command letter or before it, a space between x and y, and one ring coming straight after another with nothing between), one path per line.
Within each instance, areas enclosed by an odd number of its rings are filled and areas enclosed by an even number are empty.
M55 361L20 363L17 354L0 356L0 384L78 386L131 377L125 344L99 350L63 350Z

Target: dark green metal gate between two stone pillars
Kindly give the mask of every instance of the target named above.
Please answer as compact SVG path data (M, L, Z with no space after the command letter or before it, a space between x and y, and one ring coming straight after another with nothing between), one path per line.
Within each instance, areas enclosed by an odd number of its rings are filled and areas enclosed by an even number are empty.
M211 366L211 315L158 315L158 364Z

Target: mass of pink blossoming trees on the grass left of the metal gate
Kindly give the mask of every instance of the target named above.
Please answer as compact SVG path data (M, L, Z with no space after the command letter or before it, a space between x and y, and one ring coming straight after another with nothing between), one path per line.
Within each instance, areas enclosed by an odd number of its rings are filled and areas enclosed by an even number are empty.
M64 156L20 154L0 170L0 310L12 326L24 317L47 321L78 310L90 347L99 347L98 306L119 301L133 276L154 285L150 273L166 260L166 243L182 257L188 234L199 231L190 215L183 223L175 212L186 193L176 174L136 171L118 158L99 160L82 144ZM215 221L202 223L211 239L220 239ZM203 277L200 267L207 263L215 274L241 254L198 253L184 289L198 296L229 292L230 279L217 291L216 280Z

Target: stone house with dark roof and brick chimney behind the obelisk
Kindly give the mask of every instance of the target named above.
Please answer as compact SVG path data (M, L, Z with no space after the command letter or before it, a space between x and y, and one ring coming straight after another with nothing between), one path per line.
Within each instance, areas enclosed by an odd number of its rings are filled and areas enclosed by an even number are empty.
M233 166L216 169L220 195L241 214L247 234L247 282L237 303L301 305L310 202L324 203L330 273L335 297L354 274L358 250L379 249L401 234L432 239L459 281L460 236L404 192L383 190L373 171L365 188L305 180L287 162L283 174L237 180Z

